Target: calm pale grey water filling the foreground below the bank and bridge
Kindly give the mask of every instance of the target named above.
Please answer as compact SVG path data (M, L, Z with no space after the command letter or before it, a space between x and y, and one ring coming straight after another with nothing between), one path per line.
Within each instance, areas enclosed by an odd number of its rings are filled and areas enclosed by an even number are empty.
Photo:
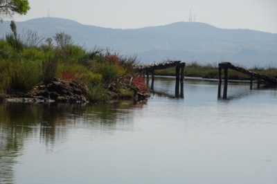
M147 102L0 104L0 183L277 183L277 89L157 78Z

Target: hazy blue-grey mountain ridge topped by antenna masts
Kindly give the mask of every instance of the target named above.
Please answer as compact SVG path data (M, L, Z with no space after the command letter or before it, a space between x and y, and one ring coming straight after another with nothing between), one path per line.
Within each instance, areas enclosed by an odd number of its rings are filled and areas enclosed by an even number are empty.
M232 62L247 67L277 65L277 34L257 30L222 29L197 22L113 29L60 18L30 19L16 24L19 33L30 29L42 37L53 37L64 31L75 44L88 50L94 46L110 48L122 55L137 55L145 64L171 59L203 64ZM7 32L10 21L0 24L0 37Z

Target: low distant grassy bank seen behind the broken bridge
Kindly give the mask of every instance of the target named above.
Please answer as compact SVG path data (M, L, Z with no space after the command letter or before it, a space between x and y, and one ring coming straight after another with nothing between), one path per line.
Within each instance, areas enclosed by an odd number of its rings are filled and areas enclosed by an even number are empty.
M248 68L249 71L253 71L255 73L260 73L262 75L268 75L271 77L277 76L277 68ZM156 75L168 75L175 76L175 67L166 68L164 70L155 71ZM245 75L244 73L240 73L238 71L229 70L228 77L231 80L250 80L249 75ZM206 64L201 65L197 62L191 62L186 64L185 67L185 76L187 77L203 77L203 78L218 78L218 66L217 64ZM224 77L224 73L222 72L222 77Z

